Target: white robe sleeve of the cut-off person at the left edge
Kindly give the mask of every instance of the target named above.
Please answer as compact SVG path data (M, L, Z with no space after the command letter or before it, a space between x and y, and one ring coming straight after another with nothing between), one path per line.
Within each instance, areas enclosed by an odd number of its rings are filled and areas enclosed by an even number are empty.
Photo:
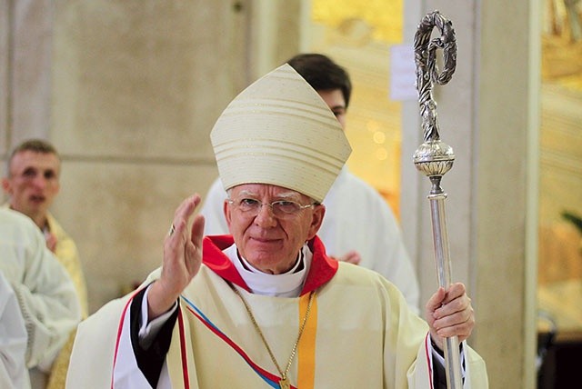
M14 289L25 320L25 363L44 371L81 319L75 285L34 222L0 209L0 271Z

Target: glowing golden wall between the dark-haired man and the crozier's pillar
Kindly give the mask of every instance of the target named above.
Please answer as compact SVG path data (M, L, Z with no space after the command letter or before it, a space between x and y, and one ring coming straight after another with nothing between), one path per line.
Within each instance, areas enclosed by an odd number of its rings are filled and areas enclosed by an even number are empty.
M402 12L401 0L312 2L313 51L330 55L352 79L346 135L354 151L347 165L398 217L401 103L389 98L389 50L402 42Z

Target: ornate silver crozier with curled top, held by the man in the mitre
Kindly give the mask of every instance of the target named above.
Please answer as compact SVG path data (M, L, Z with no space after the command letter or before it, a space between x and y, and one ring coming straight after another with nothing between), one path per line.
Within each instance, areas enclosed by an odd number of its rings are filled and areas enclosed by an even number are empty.
M430 39L433 28L437 26L441 36ZM457 41L455 30L447 18L434 11L426 15L416 30L415 35L416 89L424 143L414 155L416 169L430 179L432 187L428 200L432 218L433 242L435 244L435 262L437 265L438 284L445 289L451 284L450 254L448 248L447 217L445 214L445 199L447 194L440 187L440 180L451 167L455 155L453 149L440 141L438 135L437 103L433 99L433 83L445 85L450 81L457 66ZM437 48L443 49L444 69L438 74L436 65ZM463 380L457 336L446 338L445 367L447 371L447 387L461 389Z

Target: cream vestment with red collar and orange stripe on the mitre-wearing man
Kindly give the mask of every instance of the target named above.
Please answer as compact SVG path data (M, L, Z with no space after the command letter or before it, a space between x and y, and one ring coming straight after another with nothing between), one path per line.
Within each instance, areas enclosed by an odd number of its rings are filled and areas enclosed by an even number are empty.
M180 299L158 388L278 387L280 374L256 325L286 366L312 292L315 300L288 372L292 388L432 387L427 325L384 277L326 258L316 238L299 297L254 294L220 251L232 242L215 245L212 239L205 238L205 264ZM158 276L156 271L148 281ZM243 294L256 325L229 283ZM129 340L128 300L105 304L79 325L67 387L109 387L114 365L115 388L136 382L147 387ZM487 388L484 361L464 345L464 387Z

